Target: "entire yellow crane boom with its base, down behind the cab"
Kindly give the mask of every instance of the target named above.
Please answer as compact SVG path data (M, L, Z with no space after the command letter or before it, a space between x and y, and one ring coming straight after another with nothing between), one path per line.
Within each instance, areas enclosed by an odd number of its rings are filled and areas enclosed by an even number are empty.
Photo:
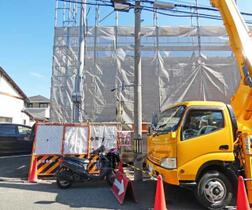
M242 147L241 164L245 177L252 178L252 39L249 28L241 16L234 0L211 0L218 8L226 31L230 46L235 54L240 69L241 81L236 93L231 99L239 124L239 142ZM249 202L252 203L252 182L246 183Z

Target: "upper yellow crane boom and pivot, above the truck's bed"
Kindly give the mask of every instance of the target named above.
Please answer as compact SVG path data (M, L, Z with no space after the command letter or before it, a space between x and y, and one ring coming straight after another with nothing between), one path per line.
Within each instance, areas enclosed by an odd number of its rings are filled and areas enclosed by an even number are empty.
M237 121L243 129L252 125L252 40L249 28L234 0L211 0L222 16L229 36L230 46L240 69L241 81L231 99ZM245 128L246 127L246 128Z

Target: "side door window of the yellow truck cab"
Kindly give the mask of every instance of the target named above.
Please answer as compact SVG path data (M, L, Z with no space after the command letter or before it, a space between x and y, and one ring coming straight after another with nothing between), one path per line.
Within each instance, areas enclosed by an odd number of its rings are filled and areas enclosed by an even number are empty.
M220 110L190 110L182 129L182 140L217 131L224 127Z

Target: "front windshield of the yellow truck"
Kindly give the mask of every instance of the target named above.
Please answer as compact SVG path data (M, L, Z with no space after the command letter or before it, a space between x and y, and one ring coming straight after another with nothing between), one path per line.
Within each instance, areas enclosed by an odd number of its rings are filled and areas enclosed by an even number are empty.
M154 130L161 133L176 130L184 111L185 106L177 106L162 112Z

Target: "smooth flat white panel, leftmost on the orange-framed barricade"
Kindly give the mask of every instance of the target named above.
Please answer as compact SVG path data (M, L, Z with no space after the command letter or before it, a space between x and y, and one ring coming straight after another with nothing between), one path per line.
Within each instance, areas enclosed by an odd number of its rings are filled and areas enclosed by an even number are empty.
M63 126L38 125L35 139L35 155L61 154Z

